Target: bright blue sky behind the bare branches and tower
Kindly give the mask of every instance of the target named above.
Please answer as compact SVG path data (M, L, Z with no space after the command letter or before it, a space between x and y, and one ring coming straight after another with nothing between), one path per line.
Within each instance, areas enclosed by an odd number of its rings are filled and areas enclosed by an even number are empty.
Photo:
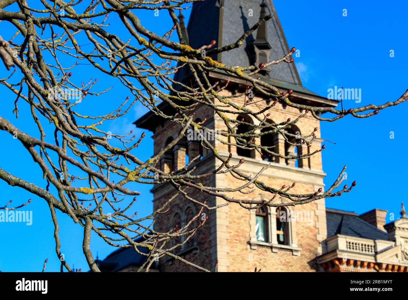
M367 6L367 4L370 6ZM405 1L384 5L380 1L274 1L279 19L286 34L289 47L300 50L295 58L303 85L308 89L327 96L328 89L338 87L361 89L361 103L349 100L345 108L353 108L371 103L383 104L395 101L408 88L406 58L408 29ZM347 9L347 17L343 17ZM164 33L169 24L167 16L154 17L153 12L139 14L142 24L149 30ZM188 13L185 13L188 21ZM157 19L153 19L157 18ZM116 20L109 20L115 23ZM154 22L152 22L154 21ZM113 30L118 27L113 25ZM13 35L14 29L6 22L0 23L4 39ZM123 31L118 31L123 34ZM127 40L127 36L121 36ZM85 46L84 46L85 47ZM390 50L395 57L390 58ZM100 76L88 65L78 66L73 71L80 73L77 82L98 78L95 90L102 90L115 84L111 78ZM84 75L85 74L85 75ZM0 77L9 75L4 67L0 68ZM16 82L17 80L11 80ZM7 118L19 129L37 136L37 129L30 118L29 107L19 101L20 118L16 119L14 109L15 96L4 86L0 86L2 95L1 116ZM85 98L80 111L84 114L99 114L116 107L118 98L130 96L120 84L98 98ZM7 101L4 101L7 99ZM98 105L95 105L95 101ZM91 112L90 112L91 111ZM129 114L118 121L106 125L112 132L128 132L138 137L142 130L135 129L131 123L145 112L137 105ZM336 144L326 143L323 151L323 168L327 173L326 185L335 180L341 168L347 164L347 184L357 181L351 193L342 197L326 200L326 206L364 213L370 209L386 209L399 217L400 203L398 191L405 187L407 160L403 153L406 145L406 126L404 120L408 113L408 103L391 107L379 112L377 116L366 119L352 117L337 122L322 122L322 138ZM48 125L45 125L46 128ZM390 131L395 134L390 139ZM140 146L137 155L142 159L152 155L151 133ZM52 141L52 131L49 136ZM13 140L8 133L0 132L0 167L20 178L45 188L39 167L32 162L20 142ZM151 187L137 186L141 196L137 197L138 213L148 213L151 208ZM53 223L47 203L20 189L0 181L2 198L0 206L13 200L13 204L32 202L26 209L33 211L33 224L0 223L0 270L2 271L41 271L42 264L49 258L46 271L59 271L59 260L55 254ZM52 191L52 190L51 190ZM408 204L408 203L406 203ZM62 253L69 264L75 268L88 270L82 253L82 227L57 213L60 222ZM387 222L389 222L387 215ZM106 257L113 247L108 246L97 236L92 236L91 249L96 256Z

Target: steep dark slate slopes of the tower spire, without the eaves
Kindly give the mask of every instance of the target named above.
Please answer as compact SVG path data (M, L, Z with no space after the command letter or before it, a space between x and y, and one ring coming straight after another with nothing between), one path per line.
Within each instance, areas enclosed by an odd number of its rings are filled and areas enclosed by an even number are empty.
M194 2L188 20L190 46L197 49L215 40L215 47L236 42L243 33L259 21L262 0L206 0ZM218 5L217 5L218 4ZM251 16L249 12L251 11ZM266 22L267 41L271 45L270 59L282 58L288 53L284 32L270 0L266 1L266 13L273 18ZM251 65L248 45L256 38L256 31L246 38L237 49L220 53L217 58L228 66ZM280 63L271 67L269 78L274 78L297 85L302 85L295 64ZM295 89L296 90L296 89Z

